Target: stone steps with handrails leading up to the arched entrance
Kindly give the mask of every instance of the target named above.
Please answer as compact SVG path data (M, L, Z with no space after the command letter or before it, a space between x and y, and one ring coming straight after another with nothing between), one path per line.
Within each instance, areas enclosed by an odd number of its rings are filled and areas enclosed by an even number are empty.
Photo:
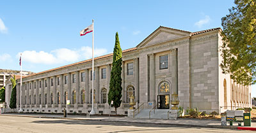
M151 110L151 111L150 111ZM156 119L168 119L168 111L169 109L143 109L138 113L138 115L134 116L134 118L156 118ZM150 112L150 116L149 116Z

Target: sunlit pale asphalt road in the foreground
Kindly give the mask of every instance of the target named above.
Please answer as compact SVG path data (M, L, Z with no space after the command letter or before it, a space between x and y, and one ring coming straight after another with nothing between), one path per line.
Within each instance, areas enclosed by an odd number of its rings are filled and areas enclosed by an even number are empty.
M170 125L99 122L91 120L67 120L52 118L31 118L1 116L0 132L253 132L229 129L205 129L193 127L172 127Z

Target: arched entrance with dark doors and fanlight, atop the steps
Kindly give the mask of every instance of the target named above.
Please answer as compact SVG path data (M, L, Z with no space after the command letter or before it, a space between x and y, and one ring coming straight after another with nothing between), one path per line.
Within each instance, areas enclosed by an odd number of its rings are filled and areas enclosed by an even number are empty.
M157 108L169 109L170 108L170 85L167 81L160 83L157 95Z

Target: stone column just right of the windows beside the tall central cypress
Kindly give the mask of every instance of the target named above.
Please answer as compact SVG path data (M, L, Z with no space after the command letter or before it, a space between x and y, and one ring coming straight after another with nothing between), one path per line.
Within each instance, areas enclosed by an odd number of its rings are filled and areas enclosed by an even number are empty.
M139 102L139 60L138 58L133 60L133 69L134 69L134 84L135 84L135 102Z

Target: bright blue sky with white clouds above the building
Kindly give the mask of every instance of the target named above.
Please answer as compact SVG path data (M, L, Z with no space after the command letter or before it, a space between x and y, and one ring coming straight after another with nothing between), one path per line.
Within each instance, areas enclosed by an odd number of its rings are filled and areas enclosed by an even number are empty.
M92 19L99 56L113 52L115 32L125 50L160 25L191 32L221 27L232 6L233 0L1 1L0 68L19 70L20 52L23 69L36 73L90 59L92 34L79 31Z

